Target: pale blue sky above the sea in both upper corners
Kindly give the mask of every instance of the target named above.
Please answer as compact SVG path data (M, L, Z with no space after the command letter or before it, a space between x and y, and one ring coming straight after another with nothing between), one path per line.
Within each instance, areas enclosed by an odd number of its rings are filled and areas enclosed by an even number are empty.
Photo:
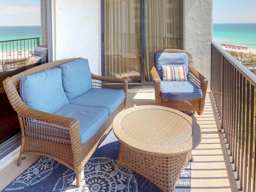
M212 0L213 23L256 23L256 0ZM40 0L0 0L0 26L40 23Z

